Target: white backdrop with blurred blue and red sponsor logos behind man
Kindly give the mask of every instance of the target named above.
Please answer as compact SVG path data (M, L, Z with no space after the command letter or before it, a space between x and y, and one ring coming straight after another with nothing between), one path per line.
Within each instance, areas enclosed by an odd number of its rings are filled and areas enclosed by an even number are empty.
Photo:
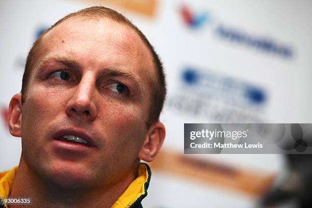
M167 127L165 149L183 154L184 123L312 122L311 1L155 2L154 15L147 17L96 1L2 1L0 171L17 165L20 157L20 138L9 134L4 118L10 98L20 91L32 43L61 17L92 5L111 6L129 17L162 58L168 84L161 116ZM197 157L264 173L285 169L277 154ZM155 171L143 204L251 207L255 201L226 188Z

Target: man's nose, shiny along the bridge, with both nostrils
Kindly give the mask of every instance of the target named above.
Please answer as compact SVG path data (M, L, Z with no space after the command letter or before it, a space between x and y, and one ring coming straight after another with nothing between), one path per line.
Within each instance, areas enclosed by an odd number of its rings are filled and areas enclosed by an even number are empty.
M96 88L92 82L92 77L84 78L74 88L74 92L65 106L65 112L69 117L93 121L97 117Z

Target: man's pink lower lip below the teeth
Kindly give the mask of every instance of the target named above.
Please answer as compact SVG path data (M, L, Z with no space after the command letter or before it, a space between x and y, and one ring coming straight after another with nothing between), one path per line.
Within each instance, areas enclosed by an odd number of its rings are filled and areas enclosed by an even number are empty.
M53 147L58 153L65 153L66 155L77 153L81 155L84 153L92 152L92 150L94 150L94 147L87 146L82 143L71 143L57 139L53 140Z

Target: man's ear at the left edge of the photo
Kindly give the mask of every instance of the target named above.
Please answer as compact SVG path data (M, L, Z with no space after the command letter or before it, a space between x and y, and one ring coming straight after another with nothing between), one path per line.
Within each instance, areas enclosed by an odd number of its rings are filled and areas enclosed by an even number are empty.
M22 104L21 94L12 97L9 105L9 131L15 137L21 137Z

